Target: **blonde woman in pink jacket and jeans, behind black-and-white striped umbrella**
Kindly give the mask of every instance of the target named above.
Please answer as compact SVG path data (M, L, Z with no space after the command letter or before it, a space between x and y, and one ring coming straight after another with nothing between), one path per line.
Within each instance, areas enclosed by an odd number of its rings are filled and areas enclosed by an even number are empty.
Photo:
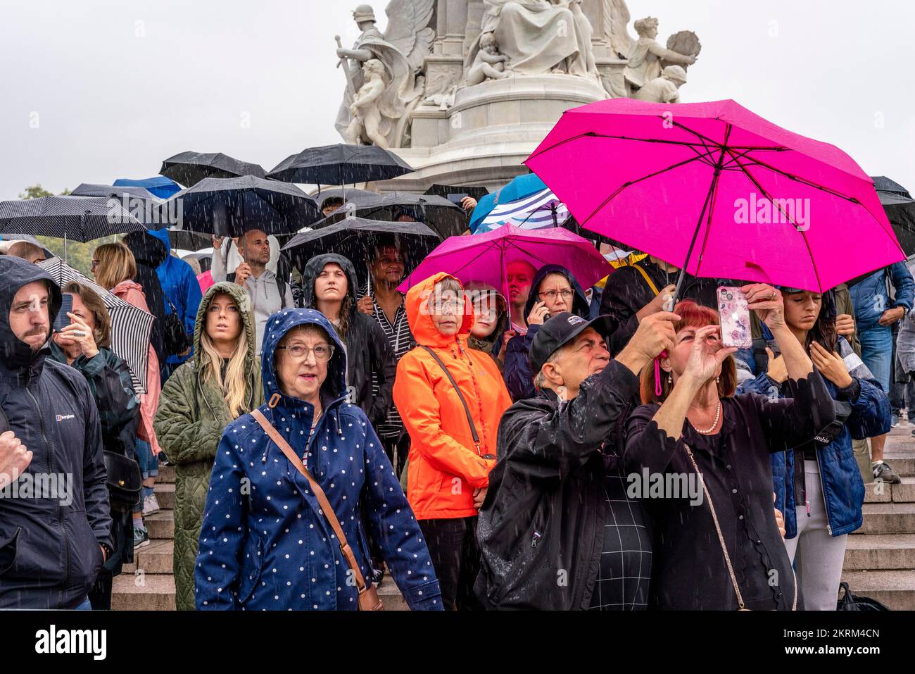
M133 278L136 276L136 261L130 248L123 244L103 244L95 249L92 254L92 274L96 282L146 312L146 297L143 287ZM162 389L159 379L159 361L156 350L149 347L149 362L146 365L146 392L140 396L140 423L136 429L135 454L136 462L140 464L143 473L143 500L134 511L134 547L142 548L149 545L149 534L143 523L143 516L152 515L159 509L153 486L156 484L156 475L159 474L158 440L156 430L153 428L153 418L159 406L159 392Z

